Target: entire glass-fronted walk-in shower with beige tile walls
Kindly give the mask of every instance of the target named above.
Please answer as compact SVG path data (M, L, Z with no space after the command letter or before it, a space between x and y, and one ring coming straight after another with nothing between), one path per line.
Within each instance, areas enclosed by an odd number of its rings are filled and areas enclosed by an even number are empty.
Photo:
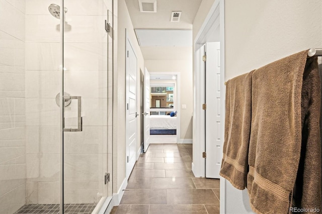
M0 213L105 210L111 11L112 0L0 0Z

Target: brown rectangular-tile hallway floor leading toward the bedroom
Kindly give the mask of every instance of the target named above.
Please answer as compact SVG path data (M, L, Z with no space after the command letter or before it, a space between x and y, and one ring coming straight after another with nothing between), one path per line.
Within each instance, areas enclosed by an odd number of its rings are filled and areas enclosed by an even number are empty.
M195 178L192 144L150 144L112 214L219 213L219 179Z

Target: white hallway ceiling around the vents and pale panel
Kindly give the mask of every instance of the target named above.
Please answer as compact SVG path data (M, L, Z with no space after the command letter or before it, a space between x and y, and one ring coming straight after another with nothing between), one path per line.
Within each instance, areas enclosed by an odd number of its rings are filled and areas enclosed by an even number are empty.
M156 0L156 13L141 13L138 0L125 0L134 29L192 29L202 0ZM180 22L170 22L171 13L182 12ZM192 32L191 32L192 34ZM140 42L143 40L140 38ZM177 46L179 43L177 44ZM141 46L144 60L191 60L192 35L189 47L159 46L158 42Z

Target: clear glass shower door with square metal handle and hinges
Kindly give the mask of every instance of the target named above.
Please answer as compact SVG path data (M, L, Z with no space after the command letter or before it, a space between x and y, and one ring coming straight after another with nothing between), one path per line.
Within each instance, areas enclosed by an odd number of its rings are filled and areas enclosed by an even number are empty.
M64 0L62 3L65 9L60 20L64 25L61 203L65 212L92 213L99 210L108 194L105 182L109 172L105 21L112 1Z

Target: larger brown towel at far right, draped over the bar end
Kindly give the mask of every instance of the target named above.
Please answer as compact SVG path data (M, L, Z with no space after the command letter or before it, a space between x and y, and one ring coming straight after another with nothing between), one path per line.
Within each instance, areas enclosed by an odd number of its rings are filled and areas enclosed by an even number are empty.
M302 51L253 72L247 188L254 211L321 212L319 117L316 57Z

